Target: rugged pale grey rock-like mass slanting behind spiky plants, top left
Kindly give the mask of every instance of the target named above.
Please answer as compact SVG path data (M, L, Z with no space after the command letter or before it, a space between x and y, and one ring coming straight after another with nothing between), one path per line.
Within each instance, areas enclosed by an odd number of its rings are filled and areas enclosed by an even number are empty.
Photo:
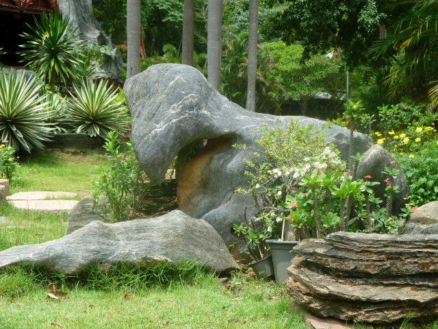
M80 40L90 46L106 46L99 48L103 65L94 63L97 69L96 77L120 82L120 73L123 71L122 56L112 47L110 36L103 32L101 25L94 17L92 1L58 0L57 3L62 16L68 18L72 27L77 29Z

